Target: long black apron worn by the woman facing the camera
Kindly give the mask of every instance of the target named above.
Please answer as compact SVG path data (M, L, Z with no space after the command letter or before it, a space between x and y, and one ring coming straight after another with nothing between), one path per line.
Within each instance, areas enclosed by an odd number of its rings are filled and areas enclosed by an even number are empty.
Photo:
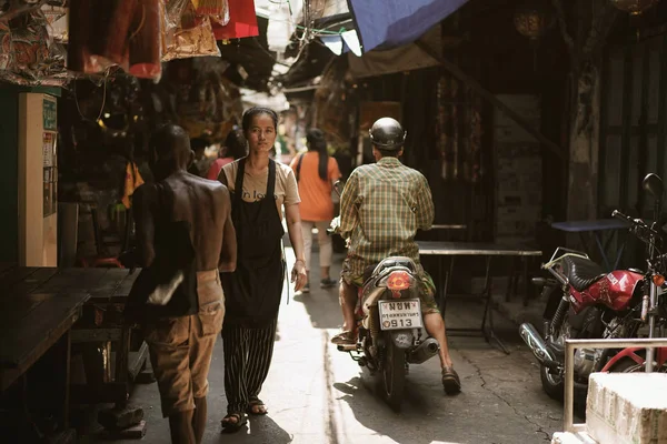
M246 159L239 161L231 204L237 233L237 268L221 273L225 324L263 327L278 316L285 278L281 240L285 234L276 208L276 162L269 160L262 200L245 202Z

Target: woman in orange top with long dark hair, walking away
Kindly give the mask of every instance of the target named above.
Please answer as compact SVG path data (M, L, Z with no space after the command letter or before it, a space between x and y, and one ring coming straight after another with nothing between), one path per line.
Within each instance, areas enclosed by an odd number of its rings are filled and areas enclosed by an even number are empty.
M340 179L338 162L327 152L325 133L311 128L306 134L308 152L297 155L290 167L295 171L301 196L301 226L303 233L303 250L306 254L306 273L308 282L301 289L302 293L310 291L310 253L312 250L312 228L317 228L320 258L320 287L330 289L337 284L329 275L331 255L334 253L331 239L327 228L334 219L334 201L331 200L332 184Z

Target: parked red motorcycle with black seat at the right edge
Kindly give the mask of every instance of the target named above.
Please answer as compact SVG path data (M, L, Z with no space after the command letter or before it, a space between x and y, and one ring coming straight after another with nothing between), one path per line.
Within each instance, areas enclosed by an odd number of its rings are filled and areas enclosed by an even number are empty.
M644 189L659 201L663 181L649 174L644 180ZM656 205L655 221L658 214L659 205ZM657 224L649 226L618 211L613 215L628 221L630 232L647 244L647 272L629 269L606 273L587 254L558 248L550 261L542 265L554 278L534 280L542 287L542 297L548 301L544 312L544 336L529 323L519 327L521 339L540 363L542 389L557 400L561 400L564 393L566 340L636 337L647 320L649 337L653 337L658 323L664 326L666 316L659 307L665 304L659 303L663 297L659 292L665 284L663 271L666 270L667 255L658 254L660 236L656 231ZM653 364L653 350L647 351L646 356L646 361ZM644 365L639 362L644 359L636 349L577 349L574 357L575 387L583 390L587 387L593 372L633 371ZM667 359L667 351L660 350L655 364L663 366L664 359ZM650 367L646 370L650 371Z

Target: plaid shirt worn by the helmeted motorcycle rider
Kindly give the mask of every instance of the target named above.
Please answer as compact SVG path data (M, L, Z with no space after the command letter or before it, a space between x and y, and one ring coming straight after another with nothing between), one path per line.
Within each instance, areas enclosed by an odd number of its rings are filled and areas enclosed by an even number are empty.
M419 171L396 158L357 168L340 200L340 231L350 233L350 274L362 275L366 266L389 255L419 262L415 234L432 222L434 201Z

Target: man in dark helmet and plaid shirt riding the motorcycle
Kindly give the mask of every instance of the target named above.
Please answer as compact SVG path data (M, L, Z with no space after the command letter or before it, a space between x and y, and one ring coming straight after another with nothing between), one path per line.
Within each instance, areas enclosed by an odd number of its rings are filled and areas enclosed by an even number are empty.
M340 273L342 332L331 342L357 342L355 307L366 268L392 255L410 258L418 265L424 285L419 294L426 331L440 344L442 386L447 394L455 394L461 383L449 356L445 321L434 296L436 287L419 263L419 248L415 242L417 230L429 230L434 221L430 189L419 171L398 160L407 135L399 122L382 118L369 132L377 163L352 171L340 201L339 232L349 238L349 248Z

